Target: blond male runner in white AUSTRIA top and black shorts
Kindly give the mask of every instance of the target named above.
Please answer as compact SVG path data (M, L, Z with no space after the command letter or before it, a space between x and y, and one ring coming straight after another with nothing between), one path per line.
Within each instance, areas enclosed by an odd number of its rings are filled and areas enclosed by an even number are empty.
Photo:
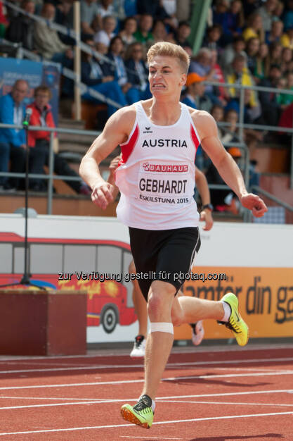
M143 428L152 426L174 325L211 318L225 323L241 346L248 341L235 294L227 293L219 302L176 297L200 248L199 215L193 199L199 144L242 206L256 217L267 211L259 196L247 192L237 164L221 144L214 118L180 103L189 66L184 49L169 42L156 43L148 50L148 64L152 98L114 113L80 166L82 178L92 189L91 199L105 209L113 200L113 187L101 177L98 164L120 144L117 218L129 226L132 256L150 318L141 397L134 406L124 404L121 414Z

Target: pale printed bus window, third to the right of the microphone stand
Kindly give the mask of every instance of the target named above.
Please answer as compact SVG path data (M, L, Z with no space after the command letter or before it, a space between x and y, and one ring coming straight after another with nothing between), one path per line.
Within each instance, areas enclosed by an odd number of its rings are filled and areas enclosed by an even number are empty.
M120 274L122 272L122 249L98 245L98 273Z

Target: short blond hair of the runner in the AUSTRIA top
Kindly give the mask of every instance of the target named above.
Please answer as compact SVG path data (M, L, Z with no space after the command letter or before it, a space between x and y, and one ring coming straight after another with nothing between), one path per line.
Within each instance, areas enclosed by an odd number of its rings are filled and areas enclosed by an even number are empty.
M188 73L190 59L188 53L183 49L182 46L169 42L155 43L150 46L150 49L148 49L148 63L150 63L152 58L157 55L177 58L179 66L181 66L183 69L183 73Z

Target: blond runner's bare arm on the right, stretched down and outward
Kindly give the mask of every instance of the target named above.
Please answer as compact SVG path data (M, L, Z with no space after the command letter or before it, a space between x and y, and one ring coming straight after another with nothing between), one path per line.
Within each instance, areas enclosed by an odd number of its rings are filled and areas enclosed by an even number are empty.
M256 194L247 192L240 169L219 139L214 118L205 111L193 112L192 118L200 135L202 148L209 155L223 180L237 194L242 206L252 210L256 218L263 216L268 211L266 204Z

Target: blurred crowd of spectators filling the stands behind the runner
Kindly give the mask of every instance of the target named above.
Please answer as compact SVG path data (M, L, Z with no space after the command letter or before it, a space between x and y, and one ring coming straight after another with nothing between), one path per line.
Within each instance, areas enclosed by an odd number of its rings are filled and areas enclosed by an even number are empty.
M73 27L71 0L13 3L27 13ZM120 106L148 99L146 53L153 43L168 41L183 46L191 59L182 101L211 112L218 123L226 123L219 126L223 142L239 141L237 85L278 87L276 94L245 89L245 123L292 127L293 95L285 89L293 90L293 0L214 0L202 47L196 54L190 41L191 5L190 0L82 0L82 40L107 57L82 52L82 82ZM73 68L74 41L68 35L4 8L1 1L0 35ZM207 81L218 85L206 85ZM225 82L230 87L221 86ZM63 79L61 97L73 97L73 83L67 78ZM88 93L82 98L99 102ZM115 110L108 105L108 116ZM244 136L251 150L257 142L272 137L266 130L245 130ZM280 140L286 143L289 137L278 135ZM242 156L240 149L232 153L235 160ZM202 152L197 155L197 166L211 171ZM251 164L255 180L254 166Z

